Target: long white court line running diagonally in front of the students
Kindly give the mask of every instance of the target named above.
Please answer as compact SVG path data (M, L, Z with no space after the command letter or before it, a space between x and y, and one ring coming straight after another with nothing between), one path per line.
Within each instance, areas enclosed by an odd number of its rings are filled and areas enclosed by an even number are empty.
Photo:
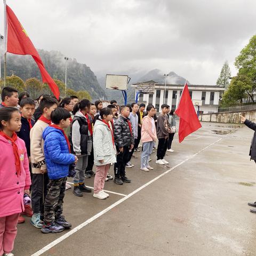
M156 180L160 179L161 177L163 177L165 174L173 171L174 169L176 169L177 167L179 167L180 165L182 165L183 163L186 163L187 161L189 161L190 159L196 157L198 154L200 154L202 151L204 151L205 149L213 146L215 143L219 142L220 140L222 140L222 138L220 138L219 140L211 143L209 146L201 149L200 151L198 151L196 154L194 154L193 156L188 157L187 159L185 159L184 161L182 161L181 163L173 166L171 169L167 170L166 172L160 174L159 176L157 176L155 179L150 180L149 182L147 182L146 184L144 184L143 186L139 187L138 189L134 190L132 193L130 193L129 195L119 199L117 202L115 202L114 204L111 204L110 206L108 206L106 209L104 209L103 211L95 214L93 217L91 217L90 219L86 220L85 222L83 222L82 224L78 225L77 227L75 227L74 229L68 231L68 233L66 233L65 235L57 238L56 240L54 240L53 242L51 242L50 244L46 245L45 247L43 247L41 250L35 252L34 254L32 254L31 256L39 256L43 253L45 253L46 251L50 250L53 246L59 244L60 242L62 242L63 240L65 240L66 238L68 238L69 236L73 235L74 233L76 233L79 229L87 226L89 223L91 223L92 221L98 219L99 217L101 217L103 214L105 214L106 212L110 211L111 209L113 209L114 207L116 207L117 205L123 203L125 200L127 200L128 198L130 198L131 196L137 194L140 190L142 190L143 188L146 188L147 186L149 186L151 183L155 182Z

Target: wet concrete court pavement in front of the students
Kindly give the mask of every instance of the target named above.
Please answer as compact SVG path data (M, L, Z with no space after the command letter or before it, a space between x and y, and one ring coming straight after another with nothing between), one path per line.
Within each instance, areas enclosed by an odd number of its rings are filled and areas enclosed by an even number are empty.
M256 166L248 156L253 131L202 125L181 144L175 135L169 165L157 165L155 152L154 170L143 172L140 152L134 153L135 166L126 169L132 183L106 182L105 189L117 193L106 200L75 197L69 189L64 213L72 229L42 234L26 217L15 256L256 255L256 214L247 205L256 200ZM86 185L92 187L93 178Z

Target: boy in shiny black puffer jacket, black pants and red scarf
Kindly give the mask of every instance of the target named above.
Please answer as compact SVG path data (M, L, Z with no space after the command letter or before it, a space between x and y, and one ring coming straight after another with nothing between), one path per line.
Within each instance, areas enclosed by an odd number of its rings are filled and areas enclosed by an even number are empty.
M132 124L128 118L130 115L129 107L122 106L120 108L121 116L114 123L114 135L117 148L117 159L114 165L115 180L118 185L123 185L123 182L130 183L125 176L125 166L130 156L130 149L134 147L134 137L132 131Z

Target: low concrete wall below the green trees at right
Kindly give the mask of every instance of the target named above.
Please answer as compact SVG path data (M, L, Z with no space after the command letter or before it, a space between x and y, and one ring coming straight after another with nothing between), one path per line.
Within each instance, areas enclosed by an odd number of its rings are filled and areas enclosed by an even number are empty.
M218 123L234 123L241 124L241 117L239 114L256 123L256 111L244 111L244 112L222 112L213 114L199 115L199 120L202 122L218 122Z

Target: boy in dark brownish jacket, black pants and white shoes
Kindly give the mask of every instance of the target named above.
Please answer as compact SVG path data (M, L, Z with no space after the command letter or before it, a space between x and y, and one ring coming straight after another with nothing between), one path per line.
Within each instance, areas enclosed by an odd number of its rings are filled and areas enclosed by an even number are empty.
M168 136L169 136L169 122L168 122L168 116L167 113L170 111L170 106L167 104L163 104L161 106L162 112L157 117L157 139L158 139L158 146L157 146L157 164L169 164L165 159L165 153L167 150L167 142L168 142Z

